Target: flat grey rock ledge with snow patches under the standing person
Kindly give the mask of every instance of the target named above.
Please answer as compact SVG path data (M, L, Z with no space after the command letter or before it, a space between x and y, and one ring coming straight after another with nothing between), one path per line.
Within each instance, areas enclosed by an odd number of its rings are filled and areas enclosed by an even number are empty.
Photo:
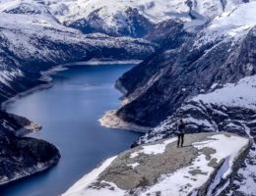
M216 132L138 146L107 159L62 196L221 195L248 153L250 140Z

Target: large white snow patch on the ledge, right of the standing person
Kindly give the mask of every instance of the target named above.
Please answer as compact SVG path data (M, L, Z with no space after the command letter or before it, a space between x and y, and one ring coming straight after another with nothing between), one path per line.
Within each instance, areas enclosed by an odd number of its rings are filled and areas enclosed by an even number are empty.
M200 149L204 147L210 147L216 150L215 154L211 155L211 158L217 159L217 162L220 163L222 159L227 159L225 167L222 169L222 172L219 172L220 176L226 177L227 174L231 172L231 167L235 158L237 157L239 151L248 144L248 139L230 136L227 137L224 134L214 135L209 137L207 142L198 142L194 143L193 146ZM223 146L224 144L224 146ZM144 192L142 195L147 196L149 193L161 192L162 196L168 195L179 195L185 196L193 191L196 191L197 188L202 186L210 177L210 174L214 172L214 168L210 167L209 160L206 159L205 155L200 155L192 163L192 166L183 168L169 175L162 176L162 180L159 183L152 186ZM201 172L192 175L191 171L200 170Z

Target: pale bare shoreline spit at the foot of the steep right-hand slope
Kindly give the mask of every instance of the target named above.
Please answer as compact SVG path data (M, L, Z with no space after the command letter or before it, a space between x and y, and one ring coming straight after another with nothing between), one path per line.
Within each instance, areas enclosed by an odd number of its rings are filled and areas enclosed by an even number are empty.
M116 110L106 111L103 117L101 117L98 120L98 122L100 123L100 125L108 128L120 128L142 133L147 133L150 129L152 129L152 127L140 126L135 123L127 123L123 121L122 119L116 116Z

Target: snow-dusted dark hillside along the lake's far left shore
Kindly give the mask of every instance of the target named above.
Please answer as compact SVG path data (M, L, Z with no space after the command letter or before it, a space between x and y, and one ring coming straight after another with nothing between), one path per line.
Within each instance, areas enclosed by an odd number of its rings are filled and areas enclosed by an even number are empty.
M52 66L91 58L144 59L157 46L144 39L85 35L50 14L28 13L0 13L0 40L1 101L38 84L39 72Z

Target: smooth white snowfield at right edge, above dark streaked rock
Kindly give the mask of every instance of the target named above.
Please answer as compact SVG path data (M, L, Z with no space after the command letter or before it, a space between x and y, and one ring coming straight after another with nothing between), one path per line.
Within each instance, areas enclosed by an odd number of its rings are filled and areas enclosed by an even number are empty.
M246 76L209 94L200 94L194 101L256 110L256 75Z

